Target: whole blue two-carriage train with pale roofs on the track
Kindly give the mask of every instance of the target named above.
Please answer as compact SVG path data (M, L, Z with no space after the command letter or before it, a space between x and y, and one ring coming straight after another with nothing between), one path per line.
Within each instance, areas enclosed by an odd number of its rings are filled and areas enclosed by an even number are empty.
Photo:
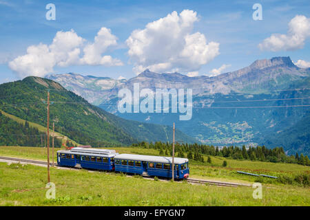
M76 147L70 151L57 151L57 164L172 178L172 157L118 154L108 149ZM174 157L174 178L187 179L188 177L188 159Z

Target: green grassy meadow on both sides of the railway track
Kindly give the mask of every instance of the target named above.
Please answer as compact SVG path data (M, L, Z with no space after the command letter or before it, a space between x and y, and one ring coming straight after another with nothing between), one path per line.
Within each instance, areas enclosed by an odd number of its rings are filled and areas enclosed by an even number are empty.
M118 153L158 155L147 148L115 148ZM46 148L0 146L0 155L45 160ZM55 157L56 158L56 157ZM190 160L190 176L253 183L259 179L236 170L276 175L309 176L309 167L211 157L212 164ZM51 168L56 199L45 198L46 168L0 163L1 206L309 206L309 185L262 181L262 199L254 199L251 187L192 185L187 182L154 181L119 173Z

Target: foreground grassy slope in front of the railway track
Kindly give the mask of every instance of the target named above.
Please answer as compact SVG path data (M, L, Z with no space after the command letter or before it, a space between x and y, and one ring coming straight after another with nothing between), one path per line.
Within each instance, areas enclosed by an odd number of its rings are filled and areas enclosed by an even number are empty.
M308 188L253 188L153 181L116 173L51 168L56 199L45 199L46 168L0 163L0 206L309 206ZM87 187L85 187L87 186Z

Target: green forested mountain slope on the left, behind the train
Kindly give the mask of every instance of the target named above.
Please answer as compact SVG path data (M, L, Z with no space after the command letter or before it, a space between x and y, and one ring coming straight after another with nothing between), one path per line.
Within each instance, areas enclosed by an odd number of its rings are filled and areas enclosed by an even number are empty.
M54 121L56 132L79 144L120 146L142 141L172 142L171 126L125 120L90 104L59 83L46 78L29 76L1 84L0 110L4 115L8 113L46 126L48 91L51 101L50 129ZM196 141L179 130L176 130L176 138L183 142Z

